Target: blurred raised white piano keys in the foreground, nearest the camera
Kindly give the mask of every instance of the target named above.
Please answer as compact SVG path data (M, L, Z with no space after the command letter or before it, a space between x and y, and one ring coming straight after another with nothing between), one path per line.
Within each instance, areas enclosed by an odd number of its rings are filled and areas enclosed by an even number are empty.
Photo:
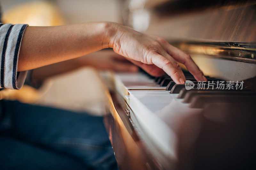
M182 119L197 114L201 109L191 109L177 99L178 94L165 90L131 90L129 106L139 127L164 155L177 159L177 130ZM132 116L131 116L132 118ZM145 141L147 142L147 141Z

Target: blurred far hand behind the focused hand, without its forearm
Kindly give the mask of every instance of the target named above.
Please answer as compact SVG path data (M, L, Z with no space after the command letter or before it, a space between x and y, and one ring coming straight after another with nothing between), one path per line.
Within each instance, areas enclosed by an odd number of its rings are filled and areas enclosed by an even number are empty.
M113 50L101 50L79 57L81 66L92 66L99 70L137 72L139 68Z

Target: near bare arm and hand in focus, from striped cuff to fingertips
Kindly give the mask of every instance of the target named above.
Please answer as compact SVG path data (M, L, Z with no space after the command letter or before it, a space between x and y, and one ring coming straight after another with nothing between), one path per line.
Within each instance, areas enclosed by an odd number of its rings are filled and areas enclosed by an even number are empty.
M152 67L147 64L154 64L176 83L186 80L176 61L185 64L197 80L206 80L188 54L161 38L110 22L27 27L20 47L18 71L76 58L102 48L113 48L149 73L156 69L147 69Z

